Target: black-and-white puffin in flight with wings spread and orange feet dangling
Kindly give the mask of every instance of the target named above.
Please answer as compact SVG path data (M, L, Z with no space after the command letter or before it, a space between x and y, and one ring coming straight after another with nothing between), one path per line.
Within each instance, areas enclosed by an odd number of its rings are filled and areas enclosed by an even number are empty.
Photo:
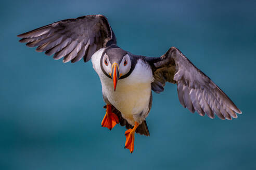
M92 61L98 74L106 114L101 126L126 127L124 148L134 151L135 133L149 136L146 117L152 91L164 91L165 83L177 85L178 100L200 116L224 120L237 118L241 110L176 47L160 57L135 55L117 46L117 39L103 15L66 19L17 35L37 52L53 55L63 63Z

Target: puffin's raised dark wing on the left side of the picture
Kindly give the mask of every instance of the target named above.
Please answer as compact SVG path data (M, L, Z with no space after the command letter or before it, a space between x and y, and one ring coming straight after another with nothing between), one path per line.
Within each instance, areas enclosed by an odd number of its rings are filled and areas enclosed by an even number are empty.
M100 48L117 44L116 36L103 15L54 22L18 37L29 47L39 46L36 48L38 52L54 54L56 60L64 56L63 63L74 63L82 58L87 62Z

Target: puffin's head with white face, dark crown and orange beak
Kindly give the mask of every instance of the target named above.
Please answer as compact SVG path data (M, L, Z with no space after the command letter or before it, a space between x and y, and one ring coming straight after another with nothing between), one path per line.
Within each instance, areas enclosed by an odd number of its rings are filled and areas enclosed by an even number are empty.
M129 54L118 46L106 49L100 64L104 74L112 78L114 91L116 91L118 80L127 77L132 67Z

